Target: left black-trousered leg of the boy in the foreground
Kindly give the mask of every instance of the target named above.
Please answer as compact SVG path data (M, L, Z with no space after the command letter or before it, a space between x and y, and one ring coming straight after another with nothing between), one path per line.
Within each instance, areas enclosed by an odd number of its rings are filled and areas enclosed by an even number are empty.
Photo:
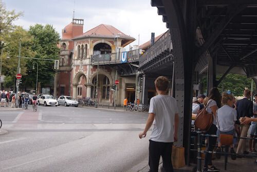
M159 143L149 140L149 172L158 172L160 161Z

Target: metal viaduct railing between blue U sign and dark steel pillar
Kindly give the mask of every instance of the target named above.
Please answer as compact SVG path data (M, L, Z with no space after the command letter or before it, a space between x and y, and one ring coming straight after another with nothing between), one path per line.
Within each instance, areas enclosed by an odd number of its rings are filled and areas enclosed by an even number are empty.
M164 33L148 50L139 58L139 68L154 60L163 52L171 50L171 37L169 31Z

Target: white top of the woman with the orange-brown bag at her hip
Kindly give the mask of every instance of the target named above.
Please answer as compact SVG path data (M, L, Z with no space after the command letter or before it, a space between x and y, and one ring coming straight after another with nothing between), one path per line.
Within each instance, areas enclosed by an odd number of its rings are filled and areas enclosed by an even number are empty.
M236 110L228 105L224 105L217 110L217 122L216 127L220 131L231 131L234 129L236 119Z

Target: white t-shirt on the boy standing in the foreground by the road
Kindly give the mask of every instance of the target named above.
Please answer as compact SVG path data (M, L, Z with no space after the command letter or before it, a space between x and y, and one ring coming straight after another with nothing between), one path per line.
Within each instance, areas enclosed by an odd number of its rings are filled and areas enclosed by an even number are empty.
M150 100L149 113L154 113L153 131L150 140L155 142L174 142L173 127L177 101L170 95L156 95Z

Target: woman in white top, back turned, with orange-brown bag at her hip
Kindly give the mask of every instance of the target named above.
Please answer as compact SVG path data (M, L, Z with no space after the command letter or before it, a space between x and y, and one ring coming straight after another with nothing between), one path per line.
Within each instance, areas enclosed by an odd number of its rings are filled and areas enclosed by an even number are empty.
M235 121L236 119L236 110L233 108L234 99L232 94L228 94L227 92L222 93L222 104L223 106L217 110L217 136L222 134L227 135L235 135ZM216 152L221 152L221 141L218 138L218 148ZM230 152L235 154L233 144L230 145ZM216 154L216 157L219 159L221 158L221 154ZM231 159L235 160L236 156L231 155Z

